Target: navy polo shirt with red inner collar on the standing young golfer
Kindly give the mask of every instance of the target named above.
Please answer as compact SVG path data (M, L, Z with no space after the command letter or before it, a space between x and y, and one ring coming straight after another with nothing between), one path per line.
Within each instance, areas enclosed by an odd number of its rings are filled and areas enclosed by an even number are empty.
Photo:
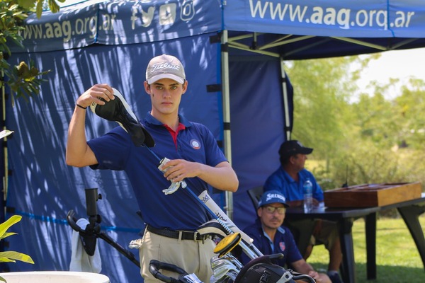
M208 221L210 215L202 204L181 187L171 195L162 192L171 182L159 171L159 159L185 159L212 167L227 159L207 127L189 122L181 115L179 121L180 130L174 141L169 129L148 112L142 124L156 143L150 149L135 146L130 134L122 127L116 127L87 143L98 160L98 165L91 168L125 171L128 175L146 224L158 229L194 231ZM210 186L200 178L186 178L185 181L196 195L210 190Z

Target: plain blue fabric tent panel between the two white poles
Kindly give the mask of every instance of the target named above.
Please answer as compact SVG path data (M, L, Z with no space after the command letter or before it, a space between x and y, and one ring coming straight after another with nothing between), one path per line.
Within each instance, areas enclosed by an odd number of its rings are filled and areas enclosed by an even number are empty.
M239 189L234 193L234 223L243 229L256 219L246 190L263 185L278 168L285 116L279 59L231 58L232 165L239 178Z

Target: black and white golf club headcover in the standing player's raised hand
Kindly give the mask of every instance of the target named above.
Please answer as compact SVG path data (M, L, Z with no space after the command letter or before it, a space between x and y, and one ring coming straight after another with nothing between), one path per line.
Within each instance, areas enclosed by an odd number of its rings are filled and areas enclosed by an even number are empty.
M115 99L106 101L105 105L91 103L91 111L103 119L118 122L125 129L125 132L130 134L135 146L145 144L148 147L153 147L155 145L154 139L139 120L137 120L136 115L130 109L123 95L115 88L113 88L113 95Z

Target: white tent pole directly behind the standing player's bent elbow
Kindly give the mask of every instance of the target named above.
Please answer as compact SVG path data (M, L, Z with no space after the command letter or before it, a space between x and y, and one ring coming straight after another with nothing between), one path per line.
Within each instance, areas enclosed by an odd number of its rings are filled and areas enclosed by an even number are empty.
M223 103L223 132L225 156L232 165L232 143L230 139L230 98L229 98L229 52L227 30L223 30L221 38L221 64L222 64L222 103ZM233 220L233 194L225 192L226 213Z

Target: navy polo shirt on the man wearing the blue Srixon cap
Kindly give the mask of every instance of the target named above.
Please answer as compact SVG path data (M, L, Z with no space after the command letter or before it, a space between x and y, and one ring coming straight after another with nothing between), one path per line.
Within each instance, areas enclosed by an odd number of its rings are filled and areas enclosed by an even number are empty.
M297 248L293 234L285 226L280 226L276 235L271 241L268 235L263 231L261 220L256 219L255 223L244 229L246 235L250 236L254 242L254 246L258 248L263 255L273 255L275 253L283 253L283 258L273 260L273 263L281 267L285 267L289 263L296 262L302 259L300 250ZM250 259L242 253L240 260L242 264L246 265Z

